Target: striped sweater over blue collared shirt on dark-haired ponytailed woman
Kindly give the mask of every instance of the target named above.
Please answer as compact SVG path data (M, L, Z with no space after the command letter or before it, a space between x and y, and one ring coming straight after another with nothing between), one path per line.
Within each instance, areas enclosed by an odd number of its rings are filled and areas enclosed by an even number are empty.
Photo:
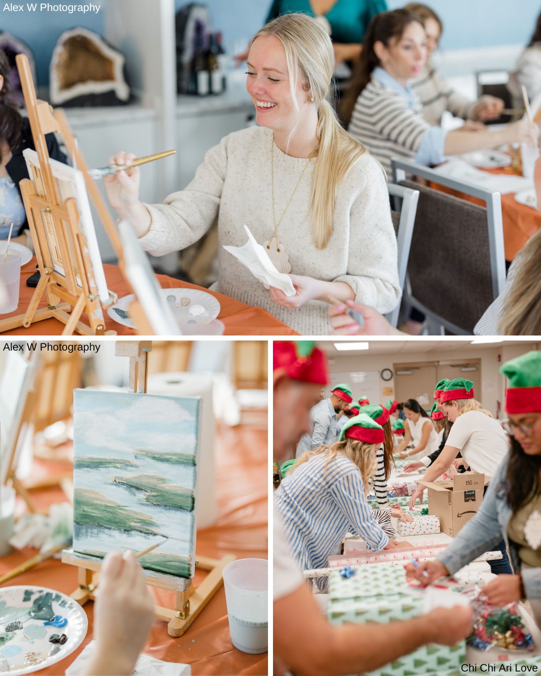
M372 78L360 93L348 131L381 162L391 180L391 158L414 160L430 129L421 116L421 103L408 105L394 89Z

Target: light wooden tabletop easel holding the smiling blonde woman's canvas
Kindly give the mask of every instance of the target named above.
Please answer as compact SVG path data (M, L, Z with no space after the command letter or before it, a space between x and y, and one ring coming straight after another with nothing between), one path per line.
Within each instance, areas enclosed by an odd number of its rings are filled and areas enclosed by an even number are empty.
M82 335L103 335L105 333L103 307L106 308L113 304L116 297L110 295L109 300L103 304L98 297L87 241L78 227L79 217L76 202L72 198L66 199L64 206L62 206L58 199L49 166L49 153L47 152L45 135L62 130L64 141L70 151L75 148L74 139L62 113L58 111L56 117L53 117L47 101L40 101L36 98L28 57L24 54L18 54L16 62L43 182L43 193L37 192L32 180L24 179L20 183L41 279L26 312L0 320L0 331L9 331L18 327L28 328L33 322L56 318L66 324L62 335L72 335L74 332ZM74 152L73 154L78 159L80 158L80 153ZM84 174L88 187L91 179L86 171ZM97 188L93 185L91 196L95 197L96 193L99 195ZM100 217L116 249L116 254L120 255L118 233L116 233L108 210L103 205L101 195L99 197L98 211ZM62 256L64 275L54 269L44 221L55 233ZM74 270L78 270L80 285L77 282ZM38 310L39 302L44 295L47 299L47 308ZM89 324L80 321L83 314L87 315Z

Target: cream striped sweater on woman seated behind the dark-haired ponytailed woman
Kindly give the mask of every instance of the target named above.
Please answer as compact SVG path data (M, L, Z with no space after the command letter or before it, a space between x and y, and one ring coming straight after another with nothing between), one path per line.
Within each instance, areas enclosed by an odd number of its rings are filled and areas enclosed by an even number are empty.
M444 110L448 110L456 118L466 120L475 105L475 101L457 94L436 68L431 66L427 67L421 77L412 80L410 85L423 106L423 118L432 126L440 124Z

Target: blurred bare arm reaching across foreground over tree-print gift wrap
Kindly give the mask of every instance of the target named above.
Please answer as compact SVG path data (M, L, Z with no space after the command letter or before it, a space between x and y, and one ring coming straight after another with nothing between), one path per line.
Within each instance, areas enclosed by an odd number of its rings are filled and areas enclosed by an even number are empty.
M471 630L471 610L438 608L388 625L329 625L306 585L276 600L274 654L298 676L339 676L379 669L427 643L452 646Z

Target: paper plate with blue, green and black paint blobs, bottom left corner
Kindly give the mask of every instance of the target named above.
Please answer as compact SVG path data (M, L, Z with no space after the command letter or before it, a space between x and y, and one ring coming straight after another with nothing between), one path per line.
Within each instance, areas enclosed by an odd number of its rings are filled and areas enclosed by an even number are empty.
M53 616L62 618L55 621L61 626L45 625ZM80 646L87 629L87 614L66 594L30 585L1 588L0 673L27 674L63 660ZM65 634L66 642L49 642L53 634Z

